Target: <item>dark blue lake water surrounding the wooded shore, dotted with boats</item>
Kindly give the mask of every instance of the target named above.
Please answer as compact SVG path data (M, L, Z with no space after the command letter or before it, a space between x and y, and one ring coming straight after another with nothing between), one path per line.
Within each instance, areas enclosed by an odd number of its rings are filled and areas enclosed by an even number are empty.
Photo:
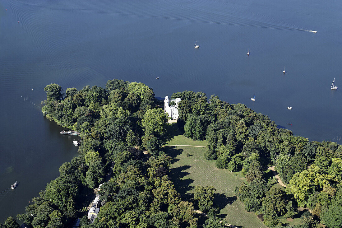
M0 222L23 213L77 154L77 137L60 135L63 128L40 112L50 83L65 91L120 78L145 83L157 97L203 91L244 103L296 136L341 143L341 6L0 0ZM334 77L340 88L331 91Z

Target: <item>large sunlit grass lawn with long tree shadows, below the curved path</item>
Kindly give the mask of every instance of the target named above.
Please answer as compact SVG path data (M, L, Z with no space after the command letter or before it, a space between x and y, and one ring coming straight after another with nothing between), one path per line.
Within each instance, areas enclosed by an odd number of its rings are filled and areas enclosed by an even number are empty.
M184 145L185 142L172 144ZM245 182L244 178L240 178L240 173L236 176L227 169L216 168L215 161L205 160L203 153L206 148L164 147L163 150L172 158L171 179L182 199L192 201L196 185L211 185L216 189L214 202L220 209L221 218L239 227L266 227L253 212L247 212L244 204L235 196L235 186ZM187 153L190 153L189 157Z

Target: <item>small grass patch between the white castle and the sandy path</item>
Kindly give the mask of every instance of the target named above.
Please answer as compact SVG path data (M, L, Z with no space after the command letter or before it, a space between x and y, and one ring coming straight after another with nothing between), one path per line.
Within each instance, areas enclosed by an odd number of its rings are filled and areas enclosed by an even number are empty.
M177 123L172 123L167 126L167 136L163 141L166 142L165 145L196 145L196 146L207 146L207 141L194 141L192 139L186 138L184 132L181 132L178 128Z

